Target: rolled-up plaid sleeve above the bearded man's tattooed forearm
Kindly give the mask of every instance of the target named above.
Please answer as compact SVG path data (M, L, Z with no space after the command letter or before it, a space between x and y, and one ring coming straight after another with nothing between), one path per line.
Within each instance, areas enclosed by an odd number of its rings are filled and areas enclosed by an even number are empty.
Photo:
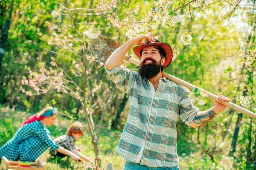
M180 119L186 123L186 125L190 126L190 123L195 118L199 109L193 105L191 99L189 98L189 94L191 94L191 92L186 89L184 95L180 99L179 116Z

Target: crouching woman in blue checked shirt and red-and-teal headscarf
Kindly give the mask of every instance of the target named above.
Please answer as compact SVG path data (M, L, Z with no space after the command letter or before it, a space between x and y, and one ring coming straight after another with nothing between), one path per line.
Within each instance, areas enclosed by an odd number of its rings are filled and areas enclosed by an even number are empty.
M80 160L74 153L51 139L51 133L45 125L51 126L57 114L55 108L47 107L26 119L15 136L0 148L0 159L5 156L12 161L35 161L48 147L52 147L60 153L71 156L75 161Z

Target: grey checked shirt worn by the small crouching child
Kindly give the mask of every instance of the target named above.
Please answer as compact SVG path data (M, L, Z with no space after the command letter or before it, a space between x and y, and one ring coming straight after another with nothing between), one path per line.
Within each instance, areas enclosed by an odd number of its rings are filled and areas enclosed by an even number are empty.
M58 138L54 139L54 142L56 142L56 144L58 144L61 147L64 147L67 150L76 149L75 141L76 140L73 136L68 136L68 135L62 135L62 136L59 136ZM51 147L49 149L49 153L52 156L56 156L57 150L55 150L54 148Z

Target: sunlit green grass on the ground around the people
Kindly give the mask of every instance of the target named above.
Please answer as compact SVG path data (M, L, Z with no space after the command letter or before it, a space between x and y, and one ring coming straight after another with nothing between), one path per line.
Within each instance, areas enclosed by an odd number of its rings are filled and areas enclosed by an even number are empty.
M7 112L0 114L0 146L7 142L15 134L20 124L29 116L26 112ZM82 120L80 120L82 122ZM52 134L52 138L64 135L67 127L72 123L72 120L58 116L57 121L51 127L47 127ZM87 125L84 125L85 135L76 141L76 146L81 148L81 153L88 156L91 159L95 158L93 144L90 142L90 133L87 131ZM101 159L102 168L107 167L108 163L112 163L114 170L122 170L125 164L125 159L121 158L116 153L116 146L119 142L119 138L122 134L122 130L103 130L99 136L99 155ZM245 169L244 158L234 159L228 157L229 148L227 145L221 147L220 153L214 153L214 159L212 160L209 155L203 152L203 148L200 144L196 143L195 136L192 136L192 140L183 140L182 136L177 143L177 150L180 159L181 170L236 170ZM208 136L211 138L211 136ZM209 148L209 150L212 149ZM46 162L47 170L90 170L90 167L94 167L95 164L75 162L70 158L64 158L60 161L52 159L49 155L49 150L45 151L40 157L41 160ZM246 160L246 159L245 159ZM214 163L214 162L215 163ZM236 167L236 168L234 168ZM253 169L254 167L252 167Z

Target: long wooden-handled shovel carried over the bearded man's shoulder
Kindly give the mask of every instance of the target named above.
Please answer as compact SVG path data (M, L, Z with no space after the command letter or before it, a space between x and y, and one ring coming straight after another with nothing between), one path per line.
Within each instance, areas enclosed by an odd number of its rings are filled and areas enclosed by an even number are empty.
M113 53L113 51L116 50L116 48L120 47L121 43L119 41L113 40L109 37L100 35L99 37L97 37L96 39L93 39L90 45L90 51L93 54L93 57L101 62L106 62L108 57ZM124 58L126 61L131 62L135 65L140 66L140 61L138 61L137 59L131 58L131 56L125 56ZM208 91L205 91L204 89L198 88L195 85L192 85L188 82L183 81L182 79L178 79L177 77L174 77L170 74L167 74L165 72L162 72L163 76L166 77L167 79L176 82L179 85L183 85L186 88L189 88L193 91L197 90L199 92L203 92L204 94L207 95L207 97L209 99L215 100L217 101L218 96L209 93ZM243 113L246 116L249 116L253 119L256 119L256 113L253 113L251 111L248 111L245 108L242 108L239 105L235 105L232 102L220 102L221 104L234 109L235 111L239 112L239 113Z

